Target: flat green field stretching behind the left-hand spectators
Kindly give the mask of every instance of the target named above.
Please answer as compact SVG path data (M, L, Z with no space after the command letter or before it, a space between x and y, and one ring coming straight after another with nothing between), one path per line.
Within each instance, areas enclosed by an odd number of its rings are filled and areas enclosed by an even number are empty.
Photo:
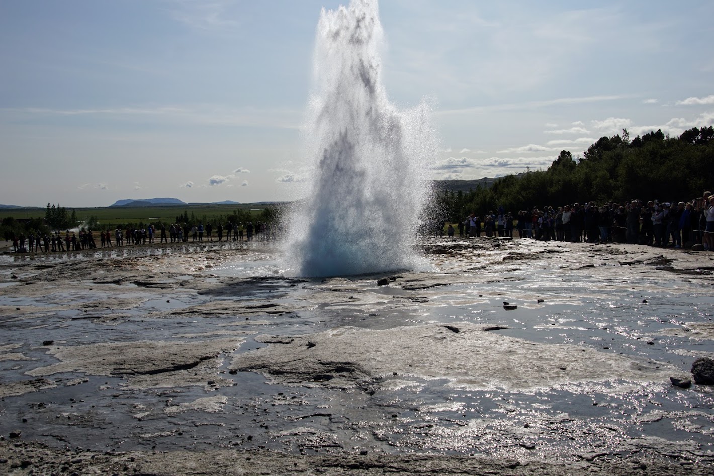
M67 213L76 212L79 221L87 221L91 216L101 224L116 223L153 223L163 221L173 223L176 216L183 215L185 211L188 216L196 216L209 220L214 220L218 216L232 215L234 211L248 211L251 215L257 215L266 208L265 205L254 203L241 203L230 205L164 205L164 206L137 206L137 207L96 207L96 208L66 208ZM7 217L16 219L24 218L44 218L45 208L3 208L0 209L0 220Z

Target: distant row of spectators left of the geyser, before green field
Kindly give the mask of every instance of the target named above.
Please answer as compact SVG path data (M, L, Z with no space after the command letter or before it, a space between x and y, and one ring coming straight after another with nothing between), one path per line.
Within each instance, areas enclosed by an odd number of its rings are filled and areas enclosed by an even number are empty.
M214 235L215 232L215 235ZM189 227L186 223L179 225L172 223L168 228L162 223L159 228L149 225L141 228L129 227L125 230L116 228L114 231L106 230L99 233L101 248L114 248L114 246L145 245L146 243L157 243L156 236L159 236L158 243L188 243L197 241L216 242L223 241L252 241L252 240L275 240L276 235L268 223L257 222L255 225L249 221L245 226L242 223L226 223L223 226L219 223L213 228L211 223L203 226L199 223ZM112 244L114 238L114 244ZM215 238L215 239L214 239ZM94 233L91 230L81 229L79 231L69 231L62 233L50 233L42 236L40 233L29 233L25 236L12 237L13 250L16 253L50 253L61 251L88 250L97 248Z

